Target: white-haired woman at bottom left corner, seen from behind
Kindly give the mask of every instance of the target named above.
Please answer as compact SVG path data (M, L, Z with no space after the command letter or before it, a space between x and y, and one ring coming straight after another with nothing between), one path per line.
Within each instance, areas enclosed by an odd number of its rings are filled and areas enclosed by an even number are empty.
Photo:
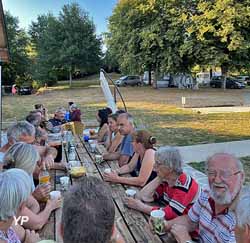
M25 207L31 193L30 178L21 169L10 169L0 173L0 242L37 243L37 233L15 225L15 218ZM20 221L19 221L20 222Z

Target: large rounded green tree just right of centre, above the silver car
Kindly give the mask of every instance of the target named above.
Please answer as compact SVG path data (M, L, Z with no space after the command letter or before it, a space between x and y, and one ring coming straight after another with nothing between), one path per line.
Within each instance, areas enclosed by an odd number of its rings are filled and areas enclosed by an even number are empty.
M109 19L107 43L123 72L186 72L195 62L183 13L196 1L123 0ZM150 72L149 72L150 73Z

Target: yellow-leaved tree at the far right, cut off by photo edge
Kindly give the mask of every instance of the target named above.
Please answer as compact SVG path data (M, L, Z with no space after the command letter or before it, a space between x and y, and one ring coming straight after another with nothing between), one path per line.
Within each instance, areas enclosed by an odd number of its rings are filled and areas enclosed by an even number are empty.
M190 16L187 31L199 42L200 64L229 68L246 67L249 63L249 0L200 0Z

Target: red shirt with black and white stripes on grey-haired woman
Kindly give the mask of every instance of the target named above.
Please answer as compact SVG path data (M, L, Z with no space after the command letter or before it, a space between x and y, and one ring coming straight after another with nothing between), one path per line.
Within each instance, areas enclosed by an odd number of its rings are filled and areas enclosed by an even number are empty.
M167 182L160 184L156 188L154 199L165 204L163 208L165 218L170 220L187 214L198 194L197 182L189 175L182 173L173 187L170 187ZM153 210L157 208L154 207Z

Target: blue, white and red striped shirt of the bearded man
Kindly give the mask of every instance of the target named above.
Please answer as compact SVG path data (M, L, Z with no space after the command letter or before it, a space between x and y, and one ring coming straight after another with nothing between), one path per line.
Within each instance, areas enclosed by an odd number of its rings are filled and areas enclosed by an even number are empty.
M209 192L201 193L197 202L189 210L190 220L199 225L199 242L235 243L235 214L228 209L216 215L215 203Z

